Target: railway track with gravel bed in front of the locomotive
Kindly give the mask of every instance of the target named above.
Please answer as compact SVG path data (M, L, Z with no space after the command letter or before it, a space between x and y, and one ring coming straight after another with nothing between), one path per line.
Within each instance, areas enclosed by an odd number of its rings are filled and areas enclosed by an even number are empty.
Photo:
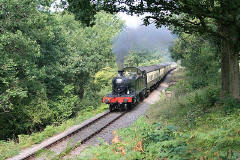
M124 114L125 112L105 111L84 121L80 125L74 126L57 136L34 145L32 148L23 150L17 156L9 158L9 160L35 159L35 155L43 149L54 152L53 157L61 157L69 149L80 146Z

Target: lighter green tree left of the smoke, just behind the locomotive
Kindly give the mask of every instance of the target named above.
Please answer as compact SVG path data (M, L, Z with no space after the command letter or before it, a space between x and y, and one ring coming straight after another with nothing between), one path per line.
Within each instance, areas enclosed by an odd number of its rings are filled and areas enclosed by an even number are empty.
M82 57L79 66L87 71L84 81L87 98L98 99L96 92L100 88L94 83L95 74L104 67L115 65L111 44L122 26L123 22L117 16L98 12L95 15L95 25L81 28L76 34L78 54Z

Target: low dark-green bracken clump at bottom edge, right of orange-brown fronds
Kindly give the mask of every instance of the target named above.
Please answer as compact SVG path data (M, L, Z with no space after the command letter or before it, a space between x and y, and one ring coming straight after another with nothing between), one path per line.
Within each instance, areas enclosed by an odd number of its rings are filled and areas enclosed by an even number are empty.
M174 125L153 125L153 131L145 132L143 138L147 159L189 159L187 143Z

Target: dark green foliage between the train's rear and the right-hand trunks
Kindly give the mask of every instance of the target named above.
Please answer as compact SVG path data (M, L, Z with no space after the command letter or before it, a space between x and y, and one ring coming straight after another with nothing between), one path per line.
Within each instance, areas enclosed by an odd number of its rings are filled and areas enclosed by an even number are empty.
M204 36L181 34L170 48L173 59L180 60L186 68L194 89L219 84L220 57L213 41Z

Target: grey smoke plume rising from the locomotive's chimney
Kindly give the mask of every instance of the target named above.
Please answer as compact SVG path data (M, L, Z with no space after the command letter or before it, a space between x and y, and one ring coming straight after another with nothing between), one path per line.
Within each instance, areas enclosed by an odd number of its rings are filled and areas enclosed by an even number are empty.
M116 56L118 69L124 66L124 59L129 51L163 50L173 41L173 35L165 28L157 29L154 25L125 28L113 41L113 53Z

